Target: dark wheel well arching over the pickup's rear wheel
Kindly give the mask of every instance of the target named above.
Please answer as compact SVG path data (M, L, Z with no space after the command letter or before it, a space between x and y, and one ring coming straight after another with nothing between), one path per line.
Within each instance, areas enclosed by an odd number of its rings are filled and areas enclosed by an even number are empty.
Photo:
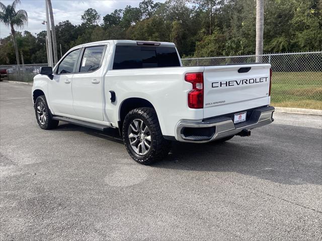
M120 121L118 123L120 134L122 134L123 121L127 113L130 112L132 109L139 108L139 107L154 108L149 101L142 98L128 98L123 101L120 107Z

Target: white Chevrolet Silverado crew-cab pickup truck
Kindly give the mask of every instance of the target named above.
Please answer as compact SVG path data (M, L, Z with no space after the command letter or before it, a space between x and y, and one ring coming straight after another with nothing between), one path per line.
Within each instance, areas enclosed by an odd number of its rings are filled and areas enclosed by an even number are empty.
M174 43L109 40L42 67L32 98L40 128L118 128L129 155L150 164L171 141L222 142L272 123L270 90L270 64L183 67Z

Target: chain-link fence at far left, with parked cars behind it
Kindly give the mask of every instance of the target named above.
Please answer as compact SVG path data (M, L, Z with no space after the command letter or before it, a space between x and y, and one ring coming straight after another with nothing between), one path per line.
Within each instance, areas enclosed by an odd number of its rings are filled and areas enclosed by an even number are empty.
M0 65L0 70L7 70L7 76L2 74L4 80L32 82L40 68L45 66L48 64Z

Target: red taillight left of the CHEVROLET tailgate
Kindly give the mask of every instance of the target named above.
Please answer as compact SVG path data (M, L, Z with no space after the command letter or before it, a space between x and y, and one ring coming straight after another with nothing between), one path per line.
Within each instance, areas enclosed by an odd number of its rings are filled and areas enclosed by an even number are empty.
M203 108L203 73L186 73L185 81L192 83L192 90L188 93L189 108Z

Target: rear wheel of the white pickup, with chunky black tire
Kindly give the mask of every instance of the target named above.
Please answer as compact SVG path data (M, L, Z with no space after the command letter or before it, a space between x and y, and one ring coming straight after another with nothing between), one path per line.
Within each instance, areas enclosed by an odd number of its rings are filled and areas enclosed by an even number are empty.
M133 109L125 116L123 140L130 156L143 165L162 160L171 147L163 138L155 110L149 107Z

